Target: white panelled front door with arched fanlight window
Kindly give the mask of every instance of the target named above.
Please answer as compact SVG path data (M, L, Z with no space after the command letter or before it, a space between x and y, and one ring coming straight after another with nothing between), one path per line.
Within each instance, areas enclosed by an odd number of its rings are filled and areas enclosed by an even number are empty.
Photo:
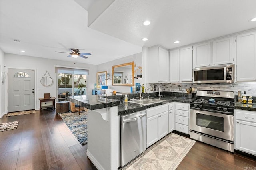
M35 71L8 68L8 112L35 109Z

